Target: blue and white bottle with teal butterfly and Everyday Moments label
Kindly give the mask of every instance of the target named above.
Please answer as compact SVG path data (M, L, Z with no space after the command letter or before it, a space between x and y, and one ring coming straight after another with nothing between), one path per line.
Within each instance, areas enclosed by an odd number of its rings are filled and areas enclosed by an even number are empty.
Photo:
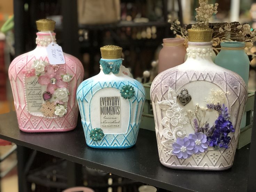
M101 48L99 74L83 81L77 100L86 143L94 148L128 148L136 143L145 102L141 83L124 71L122 48Z

